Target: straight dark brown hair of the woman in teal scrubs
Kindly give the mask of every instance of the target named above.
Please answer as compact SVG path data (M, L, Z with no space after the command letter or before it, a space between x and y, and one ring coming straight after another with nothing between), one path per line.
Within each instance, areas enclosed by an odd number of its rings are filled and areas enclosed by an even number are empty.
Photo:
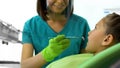
M73 0L69 0L70 6L72 4L72 1ZM73 6L72 6L72 8L69 8L70 7L69 5L67 7L68 9L65 9L66 16L69 16L73 13ZM46 16L47 15L46 0L37 0L37 13L38 13L38 15L40 15L43 18L43 20L48 20L48 17Z

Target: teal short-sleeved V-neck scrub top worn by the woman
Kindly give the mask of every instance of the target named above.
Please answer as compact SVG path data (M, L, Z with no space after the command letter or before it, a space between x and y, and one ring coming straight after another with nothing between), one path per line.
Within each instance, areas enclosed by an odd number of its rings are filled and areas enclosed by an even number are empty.
M58 60L65 56L80 53L80 50L86 47L89 31L90 28L86 19L75 14L71 15L64 28L58 33L37 15L25 22L22 33L22 43L32 44L35 49L35 54L38 54L48 46L49 39L64 34L70 38L71 44L62 54L54 59Z

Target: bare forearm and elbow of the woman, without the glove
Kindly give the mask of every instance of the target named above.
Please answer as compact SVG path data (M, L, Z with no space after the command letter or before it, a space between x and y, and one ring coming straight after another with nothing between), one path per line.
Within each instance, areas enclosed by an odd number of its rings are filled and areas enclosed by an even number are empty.
M23 44L21 68L41 68L46 63L40 53L33 56L32 44Z

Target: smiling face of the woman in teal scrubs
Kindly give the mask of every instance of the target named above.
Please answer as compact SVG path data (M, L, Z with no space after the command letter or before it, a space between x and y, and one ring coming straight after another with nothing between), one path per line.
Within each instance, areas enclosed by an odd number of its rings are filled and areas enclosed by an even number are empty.
M68 3L69 0L47 0L48 8L54 13L62 13Z

